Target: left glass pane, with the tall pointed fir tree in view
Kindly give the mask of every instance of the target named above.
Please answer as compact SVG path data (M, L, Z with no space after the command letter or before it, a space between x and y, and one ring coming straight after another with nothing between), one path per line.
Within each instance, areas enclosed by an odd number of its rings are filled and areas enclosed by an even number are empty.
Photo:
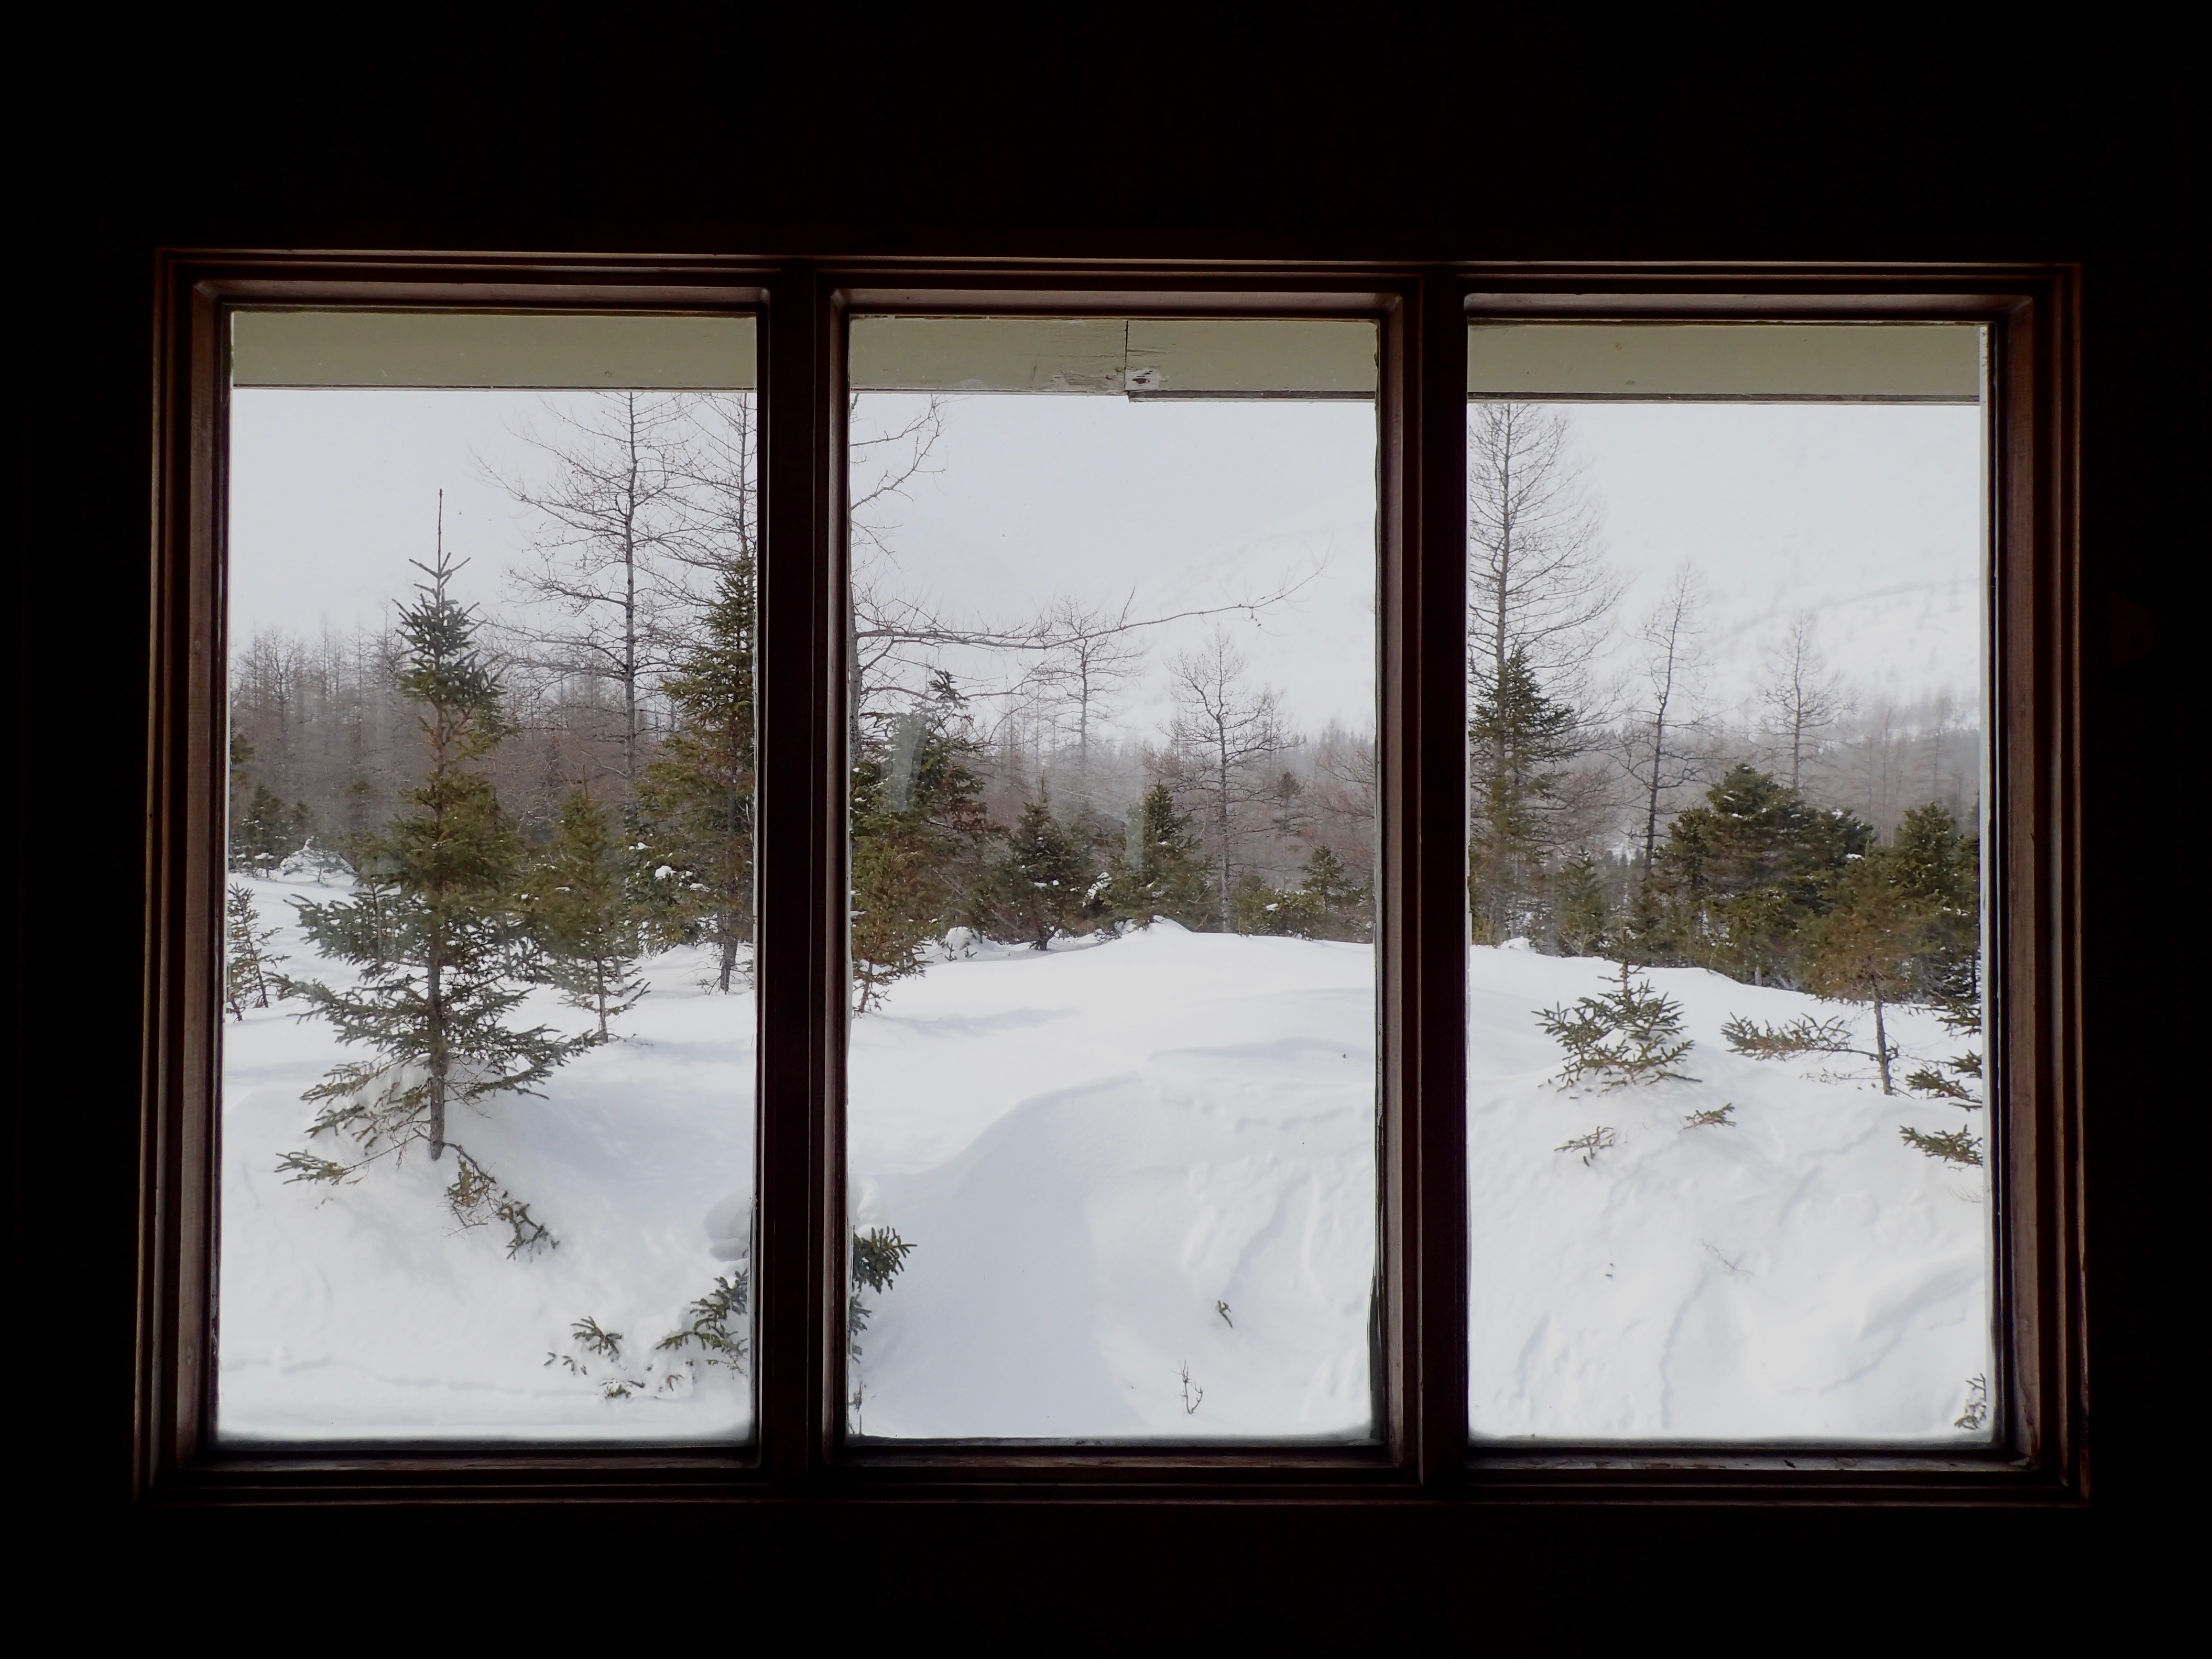
M219 1431L745 1436L752 321L232 343Z

